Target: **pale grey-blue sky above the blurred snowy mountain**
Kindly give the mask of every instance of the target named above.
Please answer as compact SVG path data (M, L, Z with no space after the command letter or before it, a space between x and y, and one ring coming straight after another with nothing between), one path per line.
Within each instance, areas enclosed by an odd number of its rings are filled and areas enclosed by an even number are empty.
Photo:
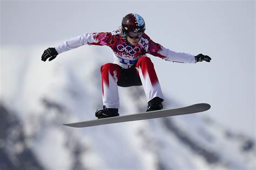
M116 30L132 12L144 18L153 41L212 58L210 63L185 64L149 55L164 95L180 107L210 103L204 114L255 138L254 1L1 1L0 46L23 48L24 53L42 47L43 53L83 33ZM80 48L85 53L90 49ZM111 49L97 49L113 61ZM33 57L41 60L41 55Z

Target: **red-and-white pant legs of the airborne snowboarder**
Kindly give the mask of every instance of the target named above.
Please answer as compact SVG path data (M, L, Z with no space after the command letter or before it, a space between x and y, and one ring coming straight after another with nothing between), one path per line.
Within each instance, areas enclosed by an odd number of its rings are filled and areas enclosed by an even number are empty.
M154 65L150 58L142 56L136 63L137 74L142 81L147 102L154 97L163 97L160 84L158 82ZM102 97L103 105L106 108L119 109L119 94L117 81L120 77L120 68L114 63L106 63L100 69L102 73Z

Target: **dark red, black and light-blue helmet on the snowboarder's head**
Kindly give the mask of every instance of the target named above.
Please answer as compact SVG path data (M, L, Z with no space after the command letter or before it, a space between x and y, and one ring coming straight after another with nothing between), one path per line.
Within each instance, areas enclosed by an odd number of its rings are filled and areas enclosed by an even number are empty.
M144 19L137 13L129 13L122 20L122 30L124 34L129 31L144 32L146 30Z

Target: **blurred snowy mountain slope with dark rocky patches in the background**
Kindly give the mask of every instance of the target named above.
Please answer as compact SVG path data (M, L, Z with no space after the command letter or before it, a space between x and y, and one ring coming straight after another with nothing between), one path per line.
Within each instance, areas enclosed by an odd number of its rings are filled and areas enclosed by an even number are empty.
M1 49L1 170L255 169L253 138L225 128L207 112L63 126L95 119L102 109L99 69L112 58L104 49L85 47L44 63L44 48ZM119 88L119 95L121 115L145 111L142 87ZM185 106L168 96L164 105Z

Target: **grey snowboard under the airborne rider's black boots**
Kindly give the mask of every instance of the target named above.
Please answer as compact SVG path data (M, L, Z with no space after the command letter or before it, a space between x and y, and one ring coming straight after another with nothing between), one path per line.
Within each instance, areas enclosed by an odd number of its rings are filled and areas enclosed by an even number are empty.
M184 108L149 111L149 112L142 112L140 114L102 118L102 119L96 119L92 121L68 123L64 125L74 127L74 128L85 128L89 126L98 126L98 125L105 125L105 124L112 124L112 123L130 122L130 121L139 121L144 119L153 119L153 118L160 118L160 117L167 117L167 116L194 114L197 112L209 110L210 108L211 108L210 104L199 103L199 104L190 105Z

